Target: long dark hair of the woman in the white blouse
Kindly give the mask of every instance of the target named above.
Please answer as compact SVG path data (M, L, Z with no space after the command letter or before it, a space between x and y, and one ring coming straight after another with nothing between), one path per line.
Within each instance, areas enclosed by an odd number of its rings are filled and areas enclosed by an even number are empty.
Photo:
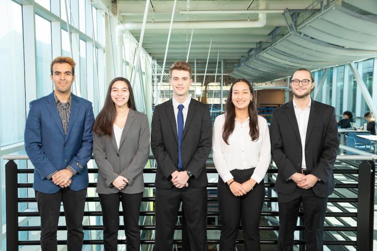
M245 82L249 86L250 93L253 95L253 101L250 101L248 110L249 110L249 128L250 132L249 135L253 141L259 139L259 127L258 127L258 113L256 111L255 103L254 103L254 94L253 94L253 87L249 81L243 78L236 79L233 82L232 86L230 87L227 102L225 103L225 123L223 127L223 140L227 145L229 145L228 140L229 136L233 133L234 130L234 119L236 116L236 111L234 104L232 102L232 92L233 86L238 82Z

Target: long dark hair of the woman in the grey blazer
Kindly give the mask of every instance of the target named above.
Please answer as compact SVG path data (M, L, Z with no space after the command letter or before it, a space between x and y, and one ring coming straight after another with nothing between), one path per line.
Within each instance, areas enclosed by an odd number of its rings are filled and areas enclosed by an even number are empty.
M113 123L114 123L115 115L117 114L117 111L115 109L115 104L113 102L113 99L111 98L111 88L113 87L113 84L117 81L123 81L127 84L128 91L130 92L130 97L128 98L128 102L127 102L128 107L130 109L136 110L134 93L132 92L130 81L128 81L128 79L124 77L114 78L109 84L104 107L102 107L102 110L97 115L95 124L93 126L93 132L95 132L96 134L108 135L108 136L113 135L113 131L114 131Z

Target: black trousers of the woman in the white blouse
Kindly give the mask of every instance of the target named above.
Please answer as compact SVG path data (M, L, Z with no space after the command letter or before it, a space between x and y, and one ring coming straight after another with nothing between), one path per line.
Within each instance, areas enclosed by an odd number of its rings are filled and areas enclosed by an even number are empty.
M254 168L232 170L234 180L240 184L250 179ZM220 251L236 250L236 238L242 225L245 250L260 250L259 221L264 199L264 181L255 184L253 190L243 196L234 196L228 184L219 177L217 196L220 207Z

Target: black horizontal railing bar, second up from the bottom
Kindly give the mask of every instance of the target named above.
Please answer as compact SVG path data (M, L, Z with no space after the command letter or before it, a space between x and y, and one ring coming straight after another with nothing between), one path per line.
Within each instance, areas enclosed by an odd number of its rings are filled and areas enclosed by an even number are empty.
M85 225L82 226L83 230L104 230L103 225ZM182 225L175 225L175 230L181 230ZM141 230L155 230L155 225L140 225ZM242 226L239 226L239 229L242 230ZM19 231L40 231L41 226L19 226ZM58 226L59 231L67 230L66 226ZM124 225L119 225L119 230L124 230ZM207 225L207 230L221 230L221 225ZM259 230L263 231L277 231L279 226L259 226ZM305 226L296 226L295 230L305 231ZM324 231L356 231L355 226L325 226Z

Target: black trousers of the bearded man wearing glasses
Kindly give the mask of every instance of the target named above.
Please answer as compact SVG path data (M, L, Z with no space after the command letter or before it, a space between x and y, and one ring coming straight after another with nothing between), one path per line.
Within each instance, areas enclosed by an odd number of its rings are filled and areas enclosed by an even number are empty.
M303 203L307 251L323 250L323 225L328 197L315 195L312 189L296 188L293 194L277 194L279 205L278 251L292 251L295 226Z

